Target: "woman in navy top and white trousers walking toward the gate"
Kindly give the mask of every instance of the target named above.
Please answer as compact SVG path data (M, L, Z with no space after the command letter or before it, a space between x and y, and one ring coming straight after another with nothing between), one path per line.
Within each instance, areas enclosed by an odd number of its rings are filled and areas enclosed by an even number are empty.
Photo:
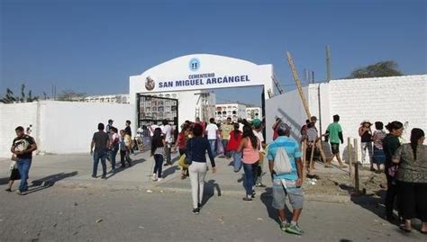
M203 202L204 176L207 172L206 150L211 160L212 173L216 172L216 167L209 141L203 138L202 125L195 124L193 135L194 137L186 142L186 164L189 165L193 213L198 214Z

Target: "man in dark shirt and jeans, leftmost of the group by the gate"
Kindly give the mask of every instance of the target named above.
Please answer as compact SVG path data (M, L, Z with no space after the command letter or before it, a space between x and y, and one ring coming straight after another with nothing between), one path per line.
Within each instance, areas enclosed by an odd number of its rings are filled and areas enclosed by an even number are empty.
M100 122L98 123L98 131L94 133L94 137L92 138L92 142L90 144L90 154L94 155L94 170L92 172L92 177L96 178L99 159L101 159L101 165L103 166L103 176L101 178L106 178L105 157L107 154L107 148L109 147L110 139L108 134L104 132L104 123Z

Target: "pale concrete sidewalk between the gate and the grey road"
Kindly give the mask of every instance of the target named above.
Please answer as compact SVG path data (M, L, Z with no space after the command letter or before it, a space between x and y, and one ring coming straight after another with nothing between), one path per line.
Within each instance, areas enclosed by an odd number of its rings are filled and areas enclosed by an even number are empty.
M117 168L115 174L108 174L107 179L100 178L102 174L101 164L98 166L98 178L92 178L93 160L89 154L71 155L46 155L34 156L30 170L29 184L50 186L60 185L70 188L103 188L110 190L140 190L153 192L190 192L190 182L187 177L181 180L180 167L177 166L178 154L172 154L173 166L163 166L164 180L152 182L150 180L154 165L154 158L150 157L150 152L141 152L131 155L133 166L130 168ZM119 157L120 159L120 157ZM210 162L209 171L205 182L207 186L213 186L216 193L222 194L244 194L243 169L234 173L232 166L228 166L232 160L223 157L216 157L216 174L212 174ZM120 162L118 162L120 164ZM6 184L9 177L10 160L0 159L0 184ZM264 163L263 183L271 187L268 164ZM107 161L107 171L111 169ZM342 173L339 169L324 169L320 166L317 173ZM17 184L14 184L16 189ZM261 188L260 188L261 189Z

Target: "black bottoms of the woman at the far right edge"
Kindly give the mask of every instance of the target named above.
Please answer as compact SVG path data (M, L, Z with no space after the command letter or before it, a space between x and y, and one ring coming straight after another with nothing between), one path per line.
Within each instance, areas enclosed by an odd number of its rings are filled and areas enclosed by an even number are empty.
M399 209L404 220L427 221L427 184L397 183Z

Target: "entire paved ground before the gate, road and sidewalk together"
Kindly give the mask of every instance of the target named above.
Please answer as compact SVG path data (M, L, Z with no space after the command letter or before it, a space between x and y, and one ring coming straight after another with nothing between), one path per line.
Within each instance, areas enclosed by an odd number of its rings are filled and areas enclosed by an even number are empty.
M232 172L224 158L217 159L217 174L206 176L209 199L195 216L189 181L179 178L177 166L166 166L166 179L152 183L152 157L132 158L134 166L104 181L90 177L88 154L36 156L30 172L35 185L25 196L4 192L9 161L0 159L0 241L425 240L416 231L403 235L378 217L384 208L377 198L319 198L313 189L301 220L306 234L285 234L277 227L269 190L258 189L259 199L242 202L241 173ZM267 178L265 183L271 184Z

